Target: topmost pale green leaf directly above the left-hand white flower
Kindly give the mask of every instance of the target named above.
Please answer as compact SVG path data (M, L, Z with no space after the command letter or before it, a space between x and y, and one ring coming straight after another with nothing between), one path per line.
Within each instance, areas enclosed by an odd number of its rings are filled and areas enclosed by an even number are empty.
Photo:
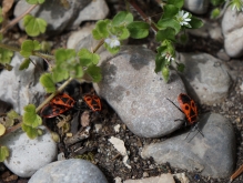
M132 13L128 11L120 11L118 14L114 16L111 23L113 27L119 27L119 26L126 26L132 21L133 21Z

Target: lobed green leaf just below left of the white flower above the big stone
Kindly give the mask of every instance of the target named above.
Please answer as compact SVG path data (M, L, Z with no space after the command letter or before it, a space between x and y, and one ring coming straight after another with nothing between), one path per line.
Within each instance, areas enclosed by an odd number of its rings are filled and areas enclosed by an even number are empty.
M91 64L98 64L100 55L90 52L88 49L81 49L78 53L80 58L80 63L82 67L89 67Z

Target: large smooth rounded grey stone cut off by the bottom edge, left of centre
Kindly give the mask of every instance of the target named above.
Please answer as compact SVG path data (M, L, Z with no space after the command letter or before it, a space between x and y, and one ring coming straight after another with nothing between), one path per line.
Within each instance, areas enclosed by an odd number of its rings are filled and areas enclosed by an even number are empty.
M28 183L108 183L103 173L85 160L69 159L41 167Z

